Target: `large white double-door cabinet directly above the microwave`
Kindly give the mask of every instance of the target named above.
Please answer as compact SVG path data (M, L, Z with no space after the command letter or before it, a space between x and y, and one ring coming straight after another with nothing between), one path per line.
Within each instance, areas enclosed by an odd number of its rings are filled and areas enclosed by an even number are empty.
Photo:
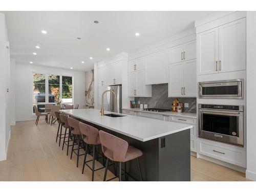
M245 70L245 18L197 34L198 75Z

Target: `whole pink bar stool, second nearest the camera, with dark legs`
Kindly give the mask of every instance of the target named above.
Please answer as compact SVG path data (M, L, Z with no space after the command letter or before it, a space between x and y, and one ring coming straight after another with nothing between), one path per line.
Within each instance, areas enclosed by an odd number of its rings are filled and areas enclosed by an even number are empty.
M86 155L84 155L82 174L83 174L83 170L84 170L84 165L87 165L92 170L92 181L94 181L94 172L104 168L104 166L103 166L103 167L95 169L95 155L97 153L97 151L95 151L95 146L100 144L99 130L97 130L95 127L93 127L91 125L88 125L88 124L82 123L82 122L79 122L79 128L80 128L80 132L82 135L82 139L86 143ZM93 159L86 161L89 145L93 145ZM98 160L99 158L102 158L102 162L104 164L104 156L103 156L103 154L100 154L100 155L101 155L101 157L97 157L96 160ZM87 162L90 162L90 161L93 161L93 167L90 167L87 164Z

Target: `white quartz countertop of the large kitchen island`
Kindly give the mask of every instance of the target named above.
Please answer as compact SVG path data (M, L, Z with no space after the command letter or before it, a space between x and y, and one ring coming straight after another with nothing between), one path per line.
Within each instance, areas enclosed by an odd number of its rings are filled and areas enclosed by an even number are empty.
M162 121L133 115L119 114L123 117L101 116L100 110L96 109L60 111L143 142L193 127L185 123ZM110 114L110 112L105 112L105 114Z

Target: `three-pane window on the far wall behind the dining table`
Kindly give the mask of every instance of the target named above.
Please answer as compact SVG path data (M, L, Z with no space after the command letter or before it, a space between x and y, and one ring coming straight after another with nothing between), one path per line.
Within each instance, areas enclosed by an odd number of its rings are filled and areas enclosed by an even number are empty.
M73 77L33 73L33 104L38 111L45 112L46 103L60 101L73 103Z

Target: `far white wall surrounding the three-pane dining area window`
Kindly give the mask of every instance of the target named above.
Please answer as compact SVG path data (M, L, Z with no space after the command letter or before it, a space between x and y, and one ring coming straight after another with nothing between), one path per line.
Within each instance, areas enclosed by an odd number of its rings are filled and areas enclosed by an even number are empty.
M74 104L79 103L79 108L84 105L84 93L86 88L85 72L49 68L36 65L24 65L16 63L15 82L15 111L16 121L34 119L32 115L32 73L46 73L56 75L67 75L74 77Z

